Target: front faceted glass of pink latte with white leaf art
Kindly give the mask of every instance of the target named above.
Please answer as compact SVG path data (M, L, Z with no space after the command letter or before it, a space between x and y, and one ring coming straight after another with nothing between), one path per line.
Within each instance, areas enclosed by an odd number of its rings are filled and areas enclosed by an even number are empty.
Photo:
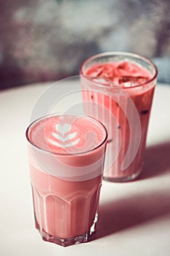
M62 246L88 241L98 219L107 129L93 118L56 114L26 131L36 229Z

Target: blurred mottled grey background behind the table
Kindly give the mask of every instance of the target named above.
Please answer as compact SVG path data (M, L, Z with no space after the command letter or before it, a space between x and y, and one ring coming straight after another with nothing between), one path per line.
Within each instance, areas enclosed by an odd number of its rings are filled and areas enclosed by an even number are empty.
M96 53L139 53L170 83L169 0L0 0L0 89L78 75Z

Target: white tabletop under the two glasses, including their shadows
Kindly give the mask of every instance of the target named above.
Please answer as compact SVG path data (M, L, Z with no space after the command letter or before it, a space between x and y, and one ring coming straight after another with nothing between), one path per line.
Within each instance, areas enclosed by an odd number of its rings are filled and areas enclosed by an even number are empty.
M170 86L158 85L138 181L103 182L92 241L62 247L34 228L25 131L49 83L0 92L0 255L170 255Z

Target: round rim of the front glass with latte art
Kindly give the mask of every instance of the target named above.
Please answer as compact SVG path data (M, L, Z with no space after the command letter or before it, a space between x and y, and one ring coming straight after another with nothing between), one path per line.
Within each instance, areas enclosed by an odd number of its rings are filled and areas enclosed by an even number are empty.
M105 133L105 137L104 139L101 141L101 143L98 144L98 146L88 150L88 151L82 151L79 153L58 153L55 151L50 151L50 150L46 150L44 148L41 148L39 146L36 146L36 143L33 143L29 137L29 130L31 129L31 127L34 127L35 124L37 124L39 121L46 119L46 118L50 118L51 116L77 116L79 118L88 118L93 122L96 122L97 124L99 124L103 129L104 129L104 133ZM93 118L91 116L85 116L85 115L80 115L80 114L74 114L74 113L52 113L52 114L47 114L45 116L41 116L39 118L36 118L36 120L32 121L31 124L28 125L28 127L26 128L26 139L28 141L28 143L33 146L34 148L36 148L36 150L41 151L42 153L45 154L53 154L54 156L58 156L58 157L72 157L72 156L83 156L85 154L89 154L90 152L96 151L98 148L100 148L101 146L104 145L104 143L107 142L108 139L108 132L107 132L107 128L104 126L104 124L101 123L101 121L96 120L96 118Z

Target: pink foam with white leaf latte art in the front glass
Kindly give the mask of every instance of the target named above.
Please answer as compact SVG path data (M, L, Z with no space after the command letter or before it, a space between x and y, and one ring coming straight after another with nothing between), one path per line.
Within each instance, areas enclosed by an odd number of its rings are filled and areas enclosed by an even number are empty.
M98 147L105 130L91 118L71 115L49 116L34 124L30 140L35 146L61 154L78 154Z

